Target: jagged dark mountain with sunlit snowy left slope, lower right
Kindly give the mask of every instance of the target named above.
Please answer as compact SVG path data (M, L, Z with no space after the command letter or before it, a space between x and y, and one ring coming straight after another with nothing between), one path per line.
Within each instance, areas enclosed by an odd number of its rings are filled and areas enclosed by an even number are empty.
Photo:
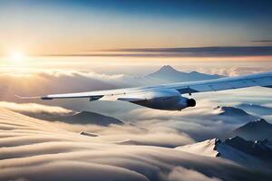
M213 138L175 149L201 156L222 157L247 167L262 166L264 163L271 167L272 148L269 144L267 140L247 141L234 137L221 141Z

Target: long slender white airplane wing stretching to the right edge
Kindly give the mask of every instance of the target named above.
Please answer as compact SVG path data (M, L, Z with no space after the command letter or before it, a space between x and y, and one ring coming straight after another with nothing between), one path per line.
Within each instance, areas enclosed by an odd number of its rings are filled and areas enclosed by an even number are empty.
M189 81L178 82L170 84L161 84L156 86L117 89L117 90L98 90L98 91L85 91L77 93L64 93L64 94L50 94L39 97L42 100L53 99L69 99L69 98L88 98L92 100L125 100L125 101L138 101L146 100L145 95L149 97L157 98L164 97L164 94L156 94L161 90L177 90L180 94L191 94L207 91L219 91L219 90L233 90L247 87L269 87L272 88L272 71L256 73L243 76L233 76L227 78L219 78L208 81ZM155 92L150 94L148 92ZM21 97L23 99L36 98L36 97Z

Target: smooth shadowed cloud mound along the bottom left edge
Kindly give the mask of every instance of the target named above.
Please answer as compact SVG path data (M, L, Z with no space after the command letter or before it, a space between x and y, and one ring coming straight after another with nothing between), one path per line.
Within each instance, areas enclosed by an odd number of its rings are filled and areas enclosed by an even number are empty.
M76 161L60 161L44 166L15 167L12 171L4 169L0 178L25 180L130 180L148 181L145 176L121 167L112 167ZM19 177L19 178L17 178ZM21 177L21 178L20 178Z

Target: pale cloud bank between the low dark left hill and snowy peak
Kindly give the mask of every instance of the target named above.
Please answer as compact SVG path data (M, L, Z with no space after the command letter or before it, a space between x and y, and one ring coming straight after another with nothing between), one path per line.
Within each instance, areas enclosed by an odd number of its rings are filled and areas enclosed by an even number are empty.
M101 127L96 125L67 124L63 122L53 122L55 127L68 131L89 132L99 135L94 141L116 143L121 145L149 145L159 147L174 148L180 145L186 145L195 142L188 134L177 131L176 129L162 129L158 125L138 124L133 125L110 125Z

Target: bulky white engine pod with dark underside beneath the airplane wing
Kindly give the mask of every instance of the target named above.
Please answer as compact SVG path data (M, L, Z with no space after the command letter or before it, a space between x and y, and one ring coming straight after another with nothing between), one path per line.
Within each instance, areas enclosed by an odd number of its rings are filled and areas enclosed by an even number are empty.
M182 97L178 90L149 92L146 98L148 99L131 102L156 110L183 110L196 106L196 100Z

